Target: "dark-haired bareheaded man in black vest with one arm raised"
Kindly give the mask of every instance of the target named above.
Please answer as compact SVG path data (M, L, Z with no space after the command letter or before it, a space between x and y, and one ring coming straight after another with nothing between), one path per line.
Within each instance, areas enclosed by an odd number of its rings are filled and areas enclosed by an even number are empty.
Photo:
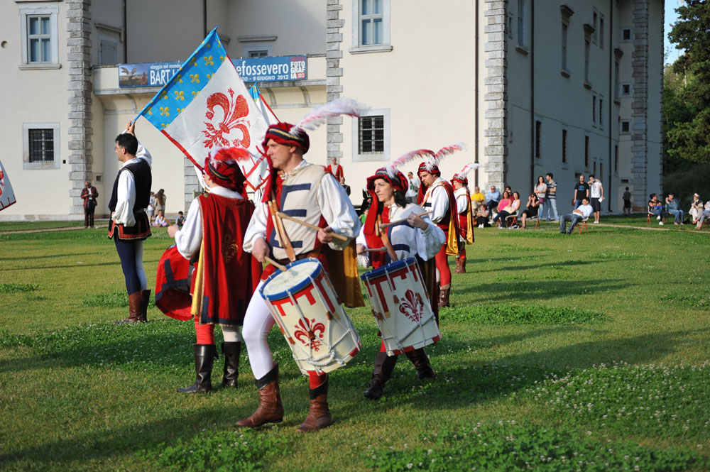
M116 155L123 167L109 200L109 238L116 243L129 294L129 317L116 323L146 322L151 291L143 270L143 239L151 236L146 207L151 197L151 154L136 139L135 122L116 136Z

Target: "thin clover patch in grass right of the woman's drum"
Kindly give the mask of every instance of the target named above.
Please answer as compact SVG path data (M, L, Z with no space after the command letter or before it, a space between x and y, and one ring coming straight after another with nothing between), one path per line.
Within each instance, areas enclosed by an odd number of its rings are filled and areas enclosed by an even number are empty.
M447 311L447 321L485 324L579 324L601 322L606 315L586 309L542 305L489 304Z

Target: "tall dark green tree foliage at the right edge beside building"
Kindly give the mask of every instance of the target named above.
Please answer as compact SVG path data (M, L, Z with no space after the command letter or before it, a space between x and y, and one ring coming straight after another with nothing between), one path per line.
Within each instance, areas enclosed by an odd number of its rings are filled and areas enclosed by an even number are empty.
M674 81L665 81L667 154L671 160L710 163L710 4L687 0L668 37L683 53ZM667 71L669 72L669 71Z

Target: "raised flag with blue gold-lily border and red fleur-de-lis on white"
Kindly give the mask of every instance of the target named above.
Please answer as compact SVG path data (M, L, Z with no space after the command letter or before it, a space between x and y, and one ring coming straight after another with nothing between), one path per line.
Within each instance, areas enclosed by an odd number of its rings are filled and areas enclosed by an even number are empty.
M160 89L143 115L200 170L209 153L239 146L257 157L241 164L251 190L268 176L261 140L268 127L214 28ZM136 119L138 119L136 116Z

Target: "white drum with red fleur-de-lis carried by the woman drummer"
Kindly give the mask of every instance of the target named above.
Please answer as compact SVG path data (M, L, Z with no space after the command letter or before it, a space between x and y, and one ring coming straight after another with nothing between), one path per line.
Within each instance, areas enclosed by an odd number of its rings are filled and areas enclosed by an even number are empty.
M367 288L388 356L429 346L441 339L416 258L389 263L360 278Z

